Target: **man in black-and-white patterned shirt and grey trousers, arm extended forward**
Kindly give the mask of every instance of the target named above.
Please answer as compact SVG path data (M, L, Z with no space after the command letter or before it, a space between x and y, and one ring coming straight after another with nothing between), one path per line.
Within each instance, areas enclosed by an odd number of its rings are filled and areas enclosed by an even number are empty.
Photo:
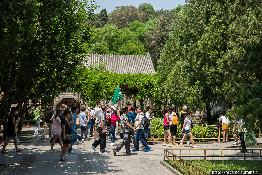
M113 148L114 156L116 156L116 152L119 152L123 146L125 146L126 155L134 155L130 150L130 134L129 128L131 128L134 132L137 132L137 129L132 127L128 121L128 107L123 108L123 114L121 115L120 120L120 134L122 134L123 141L121 141L116 148Z

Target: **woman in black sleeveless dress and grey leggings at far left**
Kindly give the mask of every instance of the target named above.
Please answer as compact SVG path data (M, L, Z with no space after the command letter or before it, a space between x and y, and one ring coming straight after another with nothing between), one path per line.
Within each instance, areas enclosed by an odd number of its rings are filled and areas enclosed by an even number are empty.
M5 148L6 148L6 145L8 144L8 141L13 138L14 140L14 145L15 145L15 148L16 148L16 152L21 152L22 149L19 149L18 146L17 146L17 136L16 136L16 133L15 133L15 124L17 124L20 120L19 117L15 117L14 114L17 112L17 108L16 107L12 107L11 108L11 112L10 114L8 115L8 125L7 125L7 135L6 135L6 140L3 144L3 148L1 150L1 153L8 153Z

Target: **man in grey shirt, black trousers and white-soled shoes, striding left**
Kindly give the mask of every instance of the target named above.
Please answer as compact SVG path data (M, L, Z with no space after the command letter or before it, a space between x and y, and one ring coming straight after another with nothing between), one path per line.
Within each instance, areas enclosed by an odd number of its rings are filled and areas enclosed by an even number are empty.
M98 125L97 130L99 133L99 140L96 141L91 145L91 148L95 151L95 148L100 144L100 151L99 153L107 153L105 152L106 147L106 134L105 134L105 113L107 110L107 107L103 105L101 107L101 112L98 113L97 119L98 119Z

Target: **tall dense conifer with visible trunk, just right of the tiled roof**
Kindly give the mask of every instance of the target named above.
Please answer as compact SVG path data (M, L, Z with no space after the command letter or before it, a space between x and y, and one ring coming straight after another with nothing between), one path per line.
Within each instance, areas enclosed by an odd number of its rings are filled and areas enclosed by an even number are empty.
M217 60L227 48L228 3L192 0L187 5L159 61L163 96L178 107L206 108L211 124L213 105L222 99L224 74Z

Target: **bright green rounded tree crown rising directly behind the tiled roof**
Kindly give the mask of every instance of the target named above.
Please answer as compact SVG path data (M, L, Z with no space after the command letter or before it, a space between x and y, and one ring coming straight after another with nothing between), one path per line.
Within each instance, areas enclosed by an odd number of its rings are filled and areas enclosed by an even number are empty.
M103 28L95 28L96 35L92 38L90 53L146 55L144 45L136 34L128 28L117 29L115 25L106 24Z

